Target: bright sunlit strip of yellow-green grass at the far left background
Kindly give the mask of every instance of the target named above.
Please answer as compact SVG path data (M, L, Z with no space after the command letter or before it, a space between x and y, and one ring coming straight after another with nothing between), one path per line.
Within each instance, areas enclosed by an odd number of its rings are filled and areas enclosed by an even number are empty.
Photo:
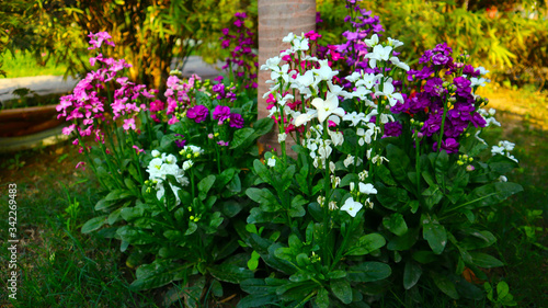
M65 75L67 67L62 64L55 64L53 59L47 59L47 56L41 58L39 62L28 53L21 53L15 50L13 55L10 52L5 52L0 55L3 58L2 70L5 71L5 77L0 75L0 78L18 78L18 77L32 77L32 76L43 76L53 75L61 76Z

